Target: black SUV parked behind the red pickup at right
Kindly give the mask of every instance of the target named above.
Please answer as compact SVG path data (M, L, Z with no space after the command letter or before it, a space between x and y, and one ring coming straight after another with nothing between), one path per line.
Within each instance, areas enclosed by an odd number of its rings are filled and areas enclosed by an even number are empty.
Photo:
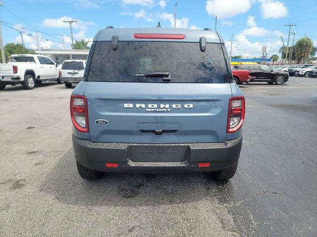
M249 70L250 76L255 77L255 79L250 79L252 81L266 81L268 84L281 85L288 81L288 72L283 71L273 71L271 68L265 65L241 65L235 69Z

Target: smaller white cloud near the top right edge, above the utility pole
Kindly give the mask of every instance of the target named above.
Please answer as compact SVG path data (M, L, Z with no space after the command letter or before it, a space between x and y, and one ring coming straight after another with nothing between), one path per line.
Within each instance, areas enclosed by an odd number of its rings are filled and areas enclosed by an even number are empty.
M259 0L261 2L261 13L264 19L282 18L287 16L287 7L282 1Z

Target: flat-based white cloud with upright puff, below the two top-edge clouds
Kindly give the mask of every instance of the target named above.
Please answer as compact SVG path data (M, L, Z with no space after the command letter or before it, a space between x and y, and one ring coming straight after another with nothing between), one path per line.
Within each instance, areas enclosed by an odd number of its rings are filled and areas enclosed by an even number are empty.
M247 20L247 27L244 29L240 35L242 36L282 36L283 33L280 31L271 31L271 30L266 30L263 27L258 27L256 22L255 22L255 17L254 16L248 16Z

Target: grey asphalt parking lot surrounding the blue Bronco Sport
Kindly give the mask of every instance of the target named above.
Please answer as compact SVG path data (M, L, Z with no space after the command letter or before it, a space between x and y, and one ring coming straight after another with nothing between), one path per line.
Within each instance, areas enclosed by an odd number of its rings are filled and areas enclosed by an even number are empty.
M63 84L0 91L0 236L317 236L317 79L241 87L235 177L77 173Z

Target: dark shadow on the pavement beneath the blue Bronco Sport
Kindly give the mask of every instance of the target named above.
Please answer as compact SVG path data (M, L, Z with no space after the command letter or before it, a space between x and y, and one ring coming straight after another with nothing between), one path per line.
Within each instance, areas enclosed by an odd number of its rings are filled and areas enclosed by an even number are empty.
M230 181L229 181L230 183ZM97 181L83 180L72 150L47 173L39 191L58 201L83 206L159 206L197 202L217 189L231 189L226 182L214 183L210 173L129 174L105 173ZM226 185L226 188L219 187ZM212 190L212 192L211 192Z

